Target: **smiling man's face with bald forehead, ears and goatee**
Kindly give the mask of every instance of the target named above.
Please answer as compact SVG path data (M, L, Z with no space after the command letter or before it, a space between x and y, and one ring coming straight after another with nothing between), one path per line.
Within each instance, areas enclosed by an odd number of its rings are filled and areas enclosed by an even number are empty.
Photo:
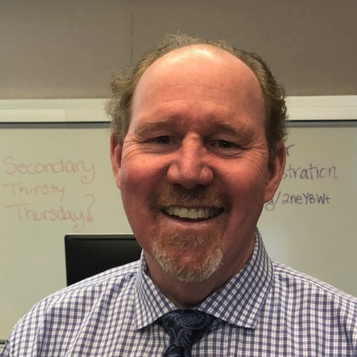
M283 172L268 156L263 96L231 54L191 46L161 57L134 93L116 184L151 276L224 281L251 256L263 203ZM155 279L154 279L155 280Z

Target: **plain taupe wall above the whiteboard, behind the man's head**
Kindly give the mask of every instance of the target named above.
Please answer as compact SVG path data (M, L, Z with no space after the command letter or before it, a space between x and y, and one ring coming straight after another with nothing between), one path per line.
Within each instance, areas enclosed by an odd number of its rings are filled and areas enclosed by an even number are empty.
M0 99L103 98L167 33L263 56L289 96L357 93L355 0L0 1Z

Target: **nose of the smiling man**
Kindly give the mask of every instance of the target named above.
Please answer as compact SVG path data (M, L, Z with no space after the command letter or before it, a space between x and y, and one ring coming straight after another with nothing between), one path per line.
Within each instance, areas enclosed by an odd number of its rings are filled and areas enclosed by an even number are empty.
M170 183L179 184L186 189L208 186L213 181L206 148L199 139L183 139L169 165L167 178Z

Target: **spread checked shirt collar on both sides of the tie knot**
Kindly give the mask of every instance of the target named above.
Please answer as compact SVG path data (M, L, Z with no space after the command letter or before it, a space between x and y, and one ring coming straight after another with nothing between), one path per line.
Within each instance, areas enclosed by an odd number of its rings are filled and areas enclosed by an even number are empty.
M157 318L175 310L146 274L144 254L136 277L136 327L143 328ZM196 308L235 326L254 328L273 281L273 264L264 248L258 230L254 251L245 266L218 291L212 293Z

